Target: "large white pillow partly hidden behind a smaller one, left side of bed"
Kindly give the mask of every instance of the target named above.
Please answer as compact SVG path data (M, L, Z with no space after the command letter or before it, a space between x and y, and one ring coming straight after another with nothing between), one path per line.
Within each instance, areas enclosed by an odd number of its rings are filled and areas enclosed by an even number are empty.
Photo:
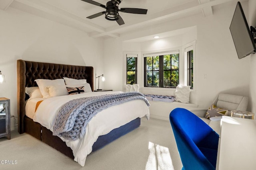
M37 83L40 92L43 95L43 98L50 98L50 94L48 92L48 88L46 86L52 85L65 85L64 79L55 79L55 80L48 80L48 79L36 79L35 82Z

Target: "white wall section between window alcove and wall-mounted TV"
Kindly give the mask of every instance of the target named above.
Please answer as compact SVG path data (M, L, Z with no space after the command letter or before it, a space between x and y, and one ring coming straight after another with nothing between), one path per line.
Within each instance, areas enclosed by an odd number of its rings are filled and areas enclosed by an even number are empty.
M238 59L229 26L236 2L213 8L197 25L197 103L210 106L220 92L248 96L249 58ZM207 74L207 79L203 79Z

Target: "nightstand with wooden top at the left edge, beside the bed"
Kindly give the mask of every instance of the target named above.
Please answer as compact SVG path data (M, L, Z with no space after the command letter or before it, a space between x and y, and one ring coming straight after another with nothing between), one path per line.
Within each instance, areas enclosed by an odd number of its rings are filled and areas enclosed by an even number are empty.
M0 137L11 139L10 99L0 98Z

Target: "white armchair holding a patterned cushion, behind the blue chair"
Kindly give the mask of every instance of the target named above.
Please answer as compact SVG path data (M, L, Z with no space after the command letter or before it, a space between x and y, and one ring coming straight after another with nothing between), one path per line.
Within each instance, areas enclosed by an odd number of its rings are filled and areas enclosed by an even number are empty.
M220 93L217 98L214 100L213 104L216 107L228 109L228 116L231 115L231 110L240 110L246 111L248 106L248 97L246 96L237 96L232 94ZM192 113L200 117L205 123L207 123L214 131L218 134L220 132L220 121L211 121L204 118L208 108L195 108L190 109ZM220 119L217 119L220 120Z

